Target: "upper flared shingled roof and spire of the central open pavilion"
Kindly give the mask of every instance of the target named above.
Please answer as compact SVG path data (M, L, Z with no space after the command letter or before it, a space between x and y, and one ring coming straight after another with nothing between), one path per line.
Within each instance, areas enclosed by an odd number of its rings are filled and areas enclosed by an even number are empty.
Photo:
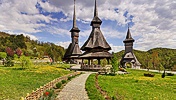
M90 49L103 49L103 50L111 50L111 47L107 43L106 39L104 38L101 30L100 25L102 21L98 17L97 5L95 0L95 9L94 9L94 18L91 22L92 32L88 38L88 40L84 43L81 47L81 50L86 51Z

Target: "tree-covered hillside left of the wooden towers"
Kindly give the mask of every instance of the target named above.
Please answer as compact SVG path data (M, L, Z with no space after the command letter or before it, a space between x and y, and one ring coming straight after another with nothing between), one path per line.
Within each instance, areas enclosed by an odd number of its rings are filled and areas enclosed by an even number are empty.
M54 61L61 61L65 50L54 43L44 43L37 40L31 40L30 37L21 35L9 35L0 32L0 52L12 51L12 56L24 54L31 58L51 57ZM21 53L20 53L21 52ZM10 53L9 53L10 54Z

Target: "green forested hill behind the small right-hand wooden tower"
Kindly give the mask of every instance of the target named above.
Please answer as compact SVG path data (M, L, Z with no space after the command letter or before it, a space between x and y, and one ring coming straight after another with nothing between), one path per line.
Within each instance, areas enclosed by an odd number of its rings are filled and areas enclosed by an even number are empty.
M134 50L142 68L150 67L152 69L176 67L176 49L169 48L154 48L148 51ZM124 54L124 50L117 52L117 57L120 60ZM153 65L154 64L154 65ZM175 68L174 67L174 68Z

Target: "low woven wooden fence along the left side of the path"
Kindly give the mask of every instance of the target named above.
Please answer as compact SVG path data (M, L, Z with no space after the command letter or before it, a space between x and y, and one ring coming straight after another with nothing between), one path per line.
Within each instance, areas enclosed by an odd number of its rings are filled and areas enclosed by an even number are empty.
M67 80L69 76L76 76L78 74L80 74L80 73L75 72L75 73L54 79L53 81L45 84L44 86L37 88L36 91L32 91L31 94L27 94L27 96L24 98L24 100L38 100L46 90L53 88L58 82L61 82L62 80Z

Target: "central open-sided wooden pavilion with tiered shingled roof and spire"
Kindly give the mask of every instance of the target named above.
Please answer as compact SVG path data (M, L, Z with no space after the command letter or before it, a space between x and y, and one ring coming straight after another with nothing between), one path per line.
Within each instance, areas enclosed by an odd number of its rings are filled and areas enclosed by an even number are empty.
M92 32L90 33L89 38L81 47L82 51L85 51L79 57L82 59L82 70L99 70L101 69L101 59L111 59L112 55L108 52L111 50L111 47L107 43L106 39L104 38L101 30L100 25L102 21L98 17L98 10L95 0L95 9L94 9L94 18L91 21ZM88 60L88 64L84 64L84 60ZM98 64L94 64L93 60L98 60Z

